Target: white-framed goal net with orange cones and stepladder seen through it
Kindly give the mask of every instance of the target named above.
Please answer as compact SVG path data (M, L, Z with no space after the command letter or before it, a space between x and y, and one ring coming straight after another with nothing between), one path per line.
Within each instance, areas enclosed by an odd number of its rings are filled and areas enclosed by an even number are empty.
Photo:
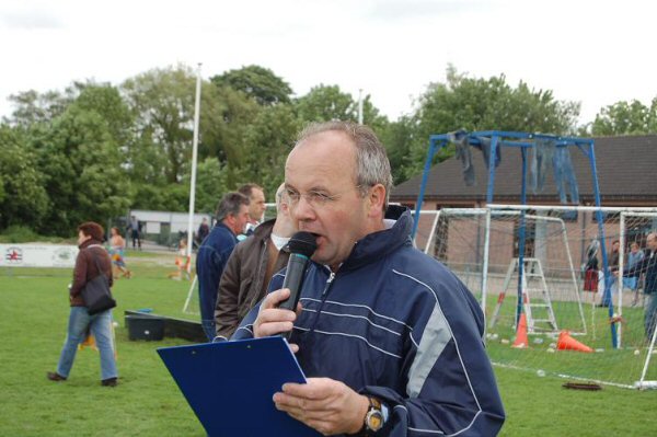
M631 243L646 251L647 233L657 230L657 208L597 210L422 211L415 244L446 264L481 302L495 365L620 387L657 380L649 365L654 338L646 335L642 278L619 280L613 274L627 266ZM618 254L615 241L623 248ZM522 331L526 343L518 335Z

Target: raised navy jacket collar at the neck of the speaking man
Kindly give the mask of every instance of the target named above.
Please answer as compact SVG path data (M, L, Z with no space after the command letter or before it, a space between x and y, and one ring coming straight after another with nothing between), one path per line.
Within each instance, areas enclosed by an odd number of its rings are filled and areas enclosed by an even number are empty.
M372 232L358 240L347 260L339 267L341 271L359 268L373 261L381 260L403 245L412 244L413 218L408 208L390 205L385 211L385 219L394 220L394 225L389 229Z

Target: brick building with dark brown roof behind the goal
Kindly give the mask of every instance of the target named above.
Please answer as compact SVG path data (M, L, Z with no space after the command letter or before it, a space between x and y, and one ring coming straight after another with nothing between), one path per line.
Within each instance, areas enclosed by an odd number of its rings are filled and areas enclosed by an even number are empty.
M475 185L468 186L465 184L461 162L458 159L450 158L436 164L428 175L423 210L476 208L486 205L488 172L483 154L474 148L471 149L475 170ZM595 205L590 161L577 147L569 147L569 149L579 191L579 205ZM657 207L657 135L595 138L595 152L601 206ZM531 152L527 156L529 169ZM502 160L496 169L493 203L520 204L521 176L522 158L520 149L503 147ZM392 189L390 200L415 208L422 179L423 175L418 174L395 186ZM545 186L541 193L532 193L531 189L527 189L527 204L560 205L552 171L548 172ZM557 214L556 217L565 220L567 234L574 239L574 242L570 243L574 260L583 262L585 244L591 239L596 239L598 234L595 214L591 211L570 215ZM604 223L608 245L611 245L611 241L620 237L618 214L604 216ZM419 248L424 248L424 244L429 241L430 234L434 232L431 226L433 219L427 217L427 219L420 220L416 235L416 243ZM460 239L466 237L471 241L481 240L483 231L477 230L472 223L469 226L470 228L454 228L453 232L458 233ZM530 228L532 229L528 228L527 235L527 256L534 256L532 249L535 233L533 228L535 227ZM643 246L646 233L654 229L657 229L657 219L646 218L637 221L634 227L627 229L626 244L636 240ZM442 235L441 238L447 239L448 237ZM518 231L509 232L505 238L508 241L495 242L495 251L498 255L504 253L506 258L517 256ZM439 244L439 242L436 242L436 244ZM450 251L457 250L450 249ZM454 260L463 254L453 252L447 255Z

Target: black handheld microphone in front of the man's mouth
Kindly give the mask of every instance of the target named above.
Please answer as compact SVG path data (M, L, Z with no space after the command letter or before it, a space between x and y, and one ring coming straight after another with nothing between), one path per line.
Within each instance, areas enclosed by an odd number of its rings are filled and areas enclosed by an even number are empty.
M297 303L301 297L301 287L303 286L303 274L308 261L318 249L315 237L310 232L297 232L288 242L290 250L290 258L288 261L285 280L283 288L290 289L290 297L280 302L278 308L296 311ZM291 332L285 333L286 338L289 338Z

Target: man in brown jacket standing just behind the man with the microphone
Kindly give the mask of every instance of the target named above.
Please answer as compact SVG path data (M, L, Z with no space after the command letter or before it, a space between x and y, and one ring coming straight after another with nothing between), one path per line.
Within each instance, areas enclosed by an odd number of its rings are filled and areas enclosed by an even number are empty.
M217 337L229 338L267 294L272 276L287 265L289 253L283 249L296 231L281 184L276 191L276 218L258 225L235 246L221 275L215 310Z

